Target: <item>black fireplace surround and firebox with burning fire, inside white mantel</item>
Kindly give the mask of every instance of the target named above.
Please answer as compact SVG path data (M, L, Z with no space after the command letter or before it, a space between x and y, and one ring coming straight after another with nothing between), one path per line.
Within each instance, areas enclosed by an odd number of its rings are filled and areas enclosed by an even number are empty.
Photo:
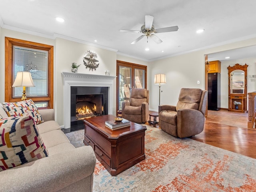
M71 87L70 131L84 129L85 118L108 114L108 87Z

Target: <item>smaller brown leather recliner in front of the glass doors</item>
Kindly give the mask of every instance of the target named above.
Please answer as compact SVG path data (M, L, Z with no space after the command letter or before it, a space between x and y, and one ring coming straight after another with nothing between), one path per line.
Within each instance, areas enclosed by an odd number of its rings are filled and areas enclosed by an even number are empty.
M122 102L122 118L135 123L145 123L149 116L149 91L133 88L130 102Z

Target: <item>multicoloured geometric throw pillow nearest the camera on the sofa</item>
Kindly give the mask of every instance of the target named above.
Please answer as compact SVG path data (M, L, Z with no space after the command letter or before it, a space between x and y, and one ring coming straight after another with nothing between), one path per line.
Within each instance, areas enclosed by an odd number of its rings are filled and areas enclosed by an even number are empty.
M32 116L0 120L0 171L47 156Z

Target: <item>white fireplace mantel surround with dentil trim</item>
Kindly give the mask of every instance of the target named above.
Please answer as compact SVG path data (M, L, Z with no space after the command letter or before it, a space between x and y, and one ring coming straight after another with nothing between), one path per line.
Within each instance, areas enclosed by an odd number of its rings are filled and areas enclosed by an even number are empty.
M113 86L116 76L82 74L62 72L62 80L64 84L64 129L65 132L70 132L70 99L71 87L108 87L108 114L113 111Z

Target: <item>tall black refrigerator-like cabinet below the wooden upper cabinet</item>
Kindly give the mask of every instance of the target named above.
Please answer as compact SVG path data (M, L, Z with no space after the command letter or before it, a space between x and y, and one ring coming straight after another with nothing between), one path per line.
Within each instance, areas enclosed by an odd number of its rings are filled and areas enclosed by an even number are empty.
M220 73L208 73L208 110L220 110Z

